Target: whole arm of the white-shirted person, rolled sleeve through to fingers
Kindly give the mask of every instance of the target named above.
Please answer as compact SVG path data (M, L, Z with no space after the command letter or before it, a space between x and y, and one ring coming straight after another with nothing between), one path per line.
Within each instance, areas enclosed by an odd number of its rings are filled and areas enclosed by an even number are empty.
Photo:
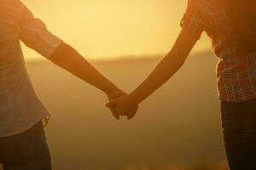
M17 21L17 31L19 38L27 47L36 50L46 59L50 59L55 65L73 73L84 82L99 88L108 95L108 99L116 99L125 92L117 88L113 82L108 81L106 77L96 70L93 65L83 58L74 48L67 43L62 42L59 37L55 37L45 26L42 20L35 18L32 12L26 8L21 1L11 1L9 8L15 8L15 17ZM119 117L113 107L110 108L113 116Z

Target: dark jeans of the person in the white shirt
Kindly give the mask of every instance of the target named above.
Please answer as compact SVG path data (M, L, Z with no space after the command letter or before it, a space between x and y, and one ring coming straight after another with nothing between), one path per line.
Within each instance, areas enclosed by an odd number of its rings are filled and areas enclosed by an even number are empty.
M0 138L0 163L4 170L50 170L49 148L42 123L15 136Z

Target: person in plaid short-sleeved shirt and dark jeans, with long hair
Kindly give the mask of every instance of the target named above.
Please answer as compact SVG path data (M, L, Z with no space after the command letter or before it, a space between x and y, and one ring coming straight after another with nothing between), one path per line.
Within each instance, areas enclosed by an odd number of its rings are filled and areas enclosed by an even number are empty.
M255 1L254 1L255 2ZM183 65L203 31L218 56L224 146L231 170L256 169L256 17L253 0L188 0L171 52L131 94L115 99L120 115L160 88ZM132 115L133 116L133 115Z

